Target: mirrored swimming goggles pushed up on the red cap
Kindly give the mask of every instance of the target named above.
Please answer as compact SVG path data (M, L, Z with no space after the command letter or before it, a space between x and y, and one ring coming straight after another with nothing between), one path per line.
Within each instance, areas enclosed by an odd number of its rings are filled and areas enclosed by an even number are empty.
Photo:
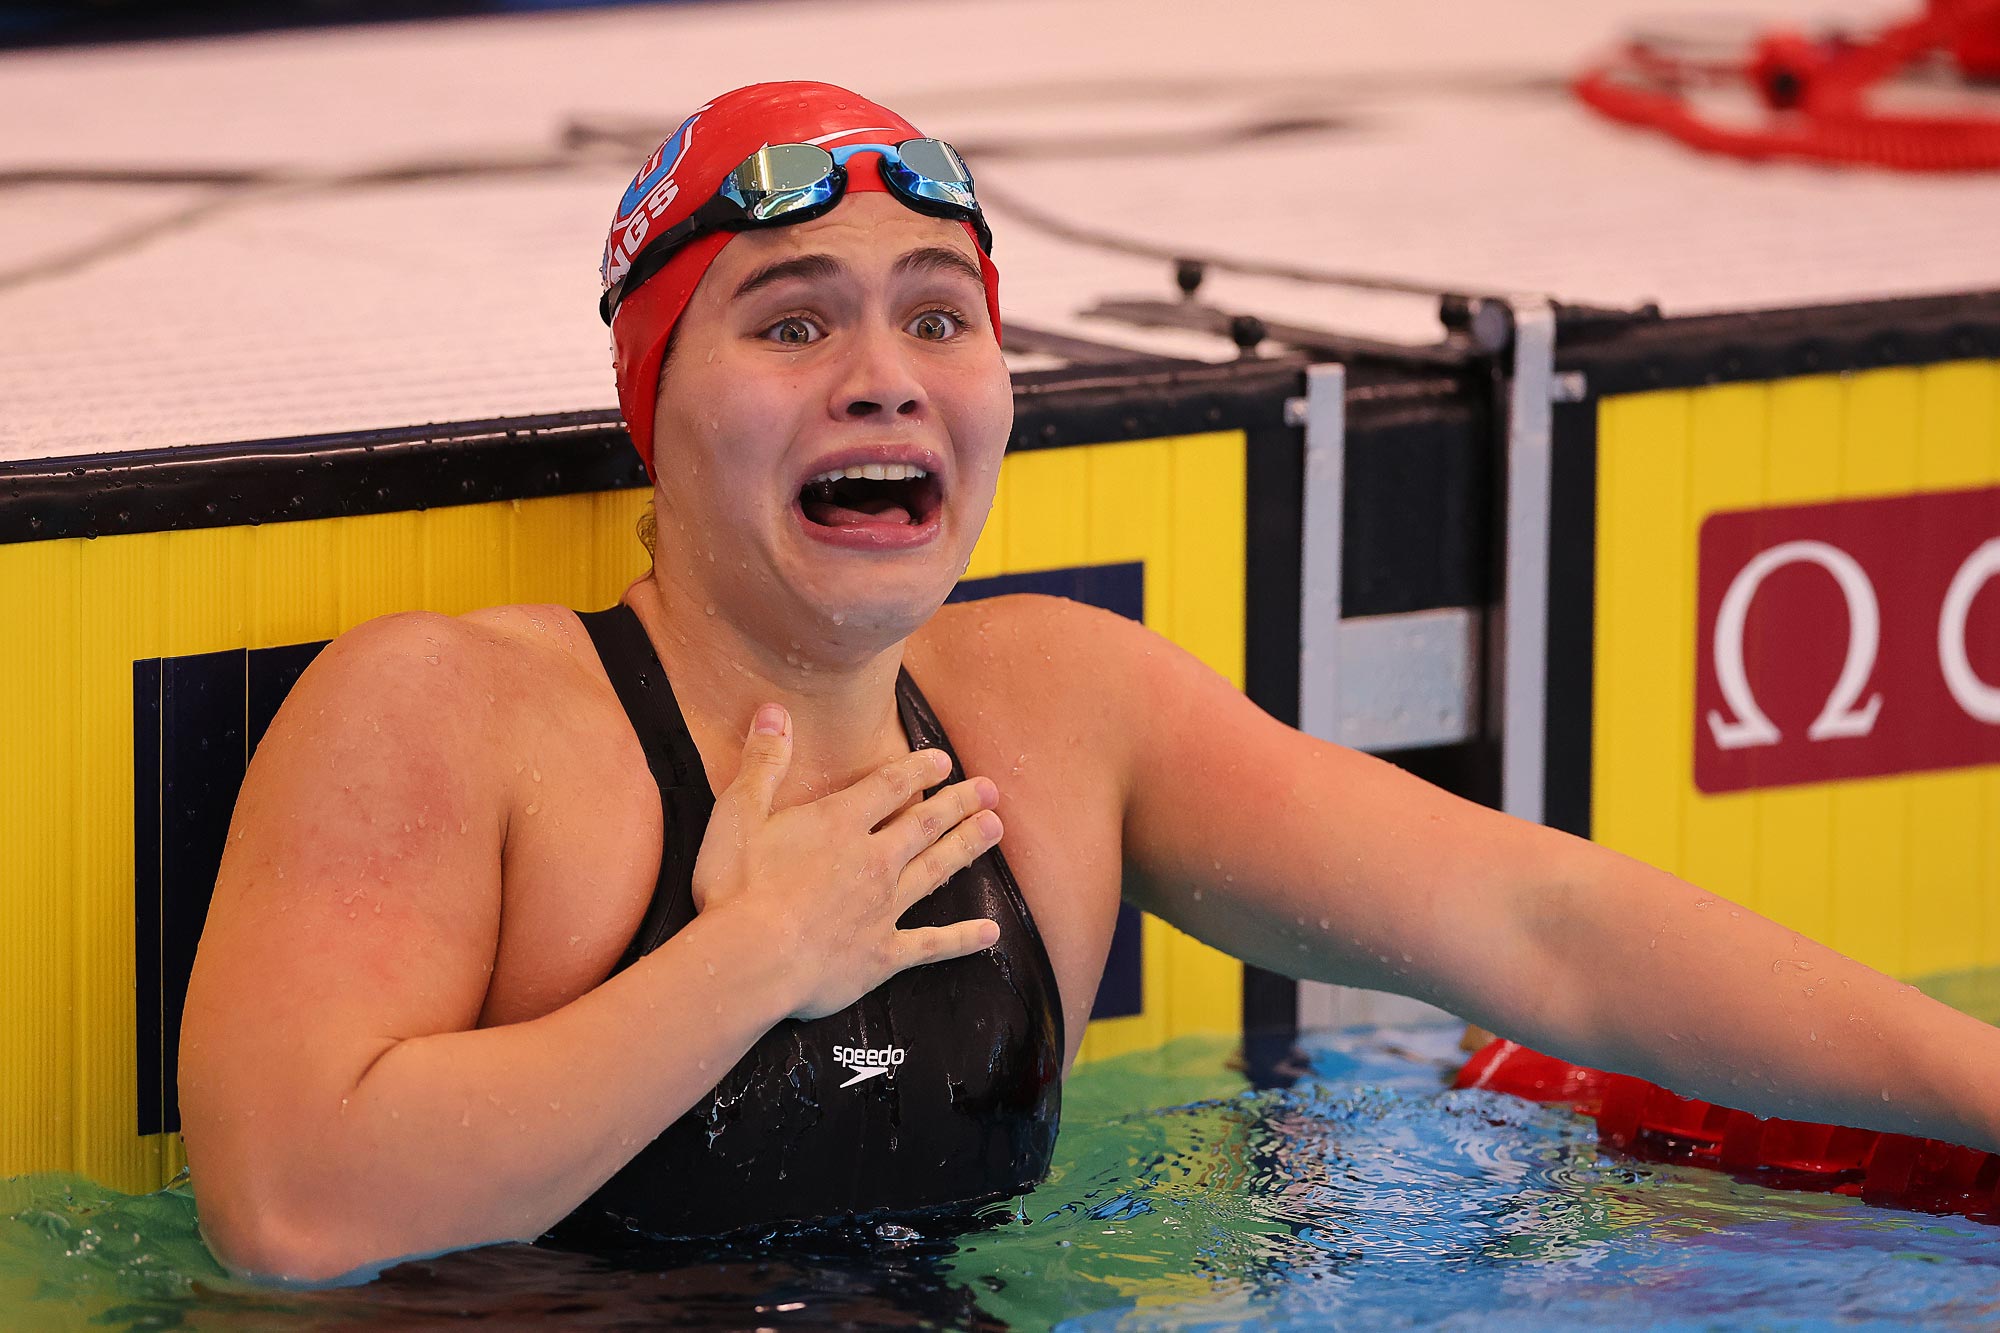
M934 218L970 222L980 250L994 252L992 230L972 198L972 172L942 138L844 144L832 152L818 144L768 144L724 176L714 198L648 240L624 276L604 290L598 314L610 324L618 304L696 236L806 222L830 210L848 188L846 160L856 152L882 154L882 184L904 204Z

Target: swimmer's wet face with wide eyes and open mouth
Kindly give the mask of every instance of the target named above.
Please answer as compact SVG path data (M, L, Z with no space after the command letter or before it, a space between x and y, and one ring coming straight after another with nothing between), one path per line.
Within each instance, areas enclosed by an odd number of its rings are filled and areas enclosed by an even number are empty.
M658 568L792 640L902 638L964 572L1012 420L962 226L868 192L744 232L660 378Z

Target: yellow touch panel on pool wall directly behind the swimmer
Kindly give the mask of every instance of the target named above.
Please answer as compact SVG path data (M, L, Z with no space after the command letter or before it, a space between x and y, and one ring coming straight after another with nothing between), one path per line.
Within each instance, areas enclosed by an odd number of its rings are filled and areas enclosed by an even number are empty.
M1146 622L1244 679L1242 432L1016 452L970 576L1140 560ZM154 1189L136 1133L134 673L332 638L410 608L606 606L646 570L644 490L0 546L0 1177ZM1140 1015L1084 1057L1238 1031L1234 959L1146 919Z

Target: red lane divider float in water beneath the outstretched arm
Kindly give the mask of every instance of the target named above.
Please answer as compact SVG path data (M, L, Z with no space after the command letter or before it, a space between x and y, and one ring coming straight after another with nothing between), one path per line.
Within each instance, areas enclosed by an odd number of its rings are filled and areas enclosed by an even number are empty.
M1564 1103L1596 1119L1606 1147L1652 1161L1756 1175L1778 1189L1854 1195L1918 1213L2000 1223L2000 1155L1806 1121L1766 1121L1656 1083L1558 1061L1512 1041L1484 1045L1454 1087Z

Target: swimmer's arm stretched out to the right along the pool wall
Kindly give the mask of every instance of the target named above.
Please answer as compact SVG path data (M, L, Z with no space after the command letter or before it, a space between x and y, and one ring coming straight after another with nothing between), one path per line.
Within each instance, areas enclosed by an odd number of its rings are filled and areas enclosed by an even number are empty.
M2000 1151L2000 1029L1304 737L1130 620L1056 618L1050 652L1088 642L1096 679L1126 679L1126 897L1142 907L1250 963L1412 995L1682 1095Z

